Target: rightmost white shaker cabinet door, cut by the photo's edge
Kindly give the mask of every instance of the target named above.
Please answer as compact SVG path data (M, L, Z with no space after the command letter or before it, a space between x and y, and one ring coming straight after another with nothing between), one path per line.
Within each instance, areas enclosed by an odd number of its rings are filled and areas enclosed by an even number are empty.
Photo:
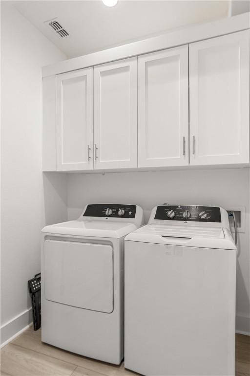
M248 163L250 31L189 48L190 164Z

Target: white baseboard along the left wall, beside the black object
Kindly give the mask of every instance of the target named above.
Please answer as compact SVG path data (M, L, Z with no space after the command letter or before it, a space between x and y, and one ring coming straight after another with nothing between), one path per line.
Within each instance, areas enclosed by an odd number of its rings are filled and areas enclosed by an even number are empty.
M24 330L28 329L32 321L32 308L28 308L7 323L3 324L1 326L0 347L2 348L8 342L20 335Z

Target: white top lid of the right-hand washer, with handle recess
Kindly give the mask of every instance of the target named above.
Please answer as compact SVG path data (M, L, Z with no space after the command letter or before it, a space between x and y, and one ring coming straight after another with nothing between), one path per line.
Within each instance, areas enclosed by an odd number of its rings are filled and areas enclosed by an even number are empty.
M128 234L125 240L187 247L236 249L228 229L150 224Z

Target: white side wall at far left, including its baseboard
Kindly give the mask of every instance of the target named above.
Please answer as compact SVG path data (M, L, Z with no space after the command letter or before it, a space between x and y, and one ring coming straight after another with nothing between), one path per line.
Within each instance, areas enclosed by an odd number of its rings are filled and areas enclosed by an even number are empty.
M65 175L42 177L41 77L65 58L1 2L1 342L31 321L27 281L40 271L41 228L66 219Z

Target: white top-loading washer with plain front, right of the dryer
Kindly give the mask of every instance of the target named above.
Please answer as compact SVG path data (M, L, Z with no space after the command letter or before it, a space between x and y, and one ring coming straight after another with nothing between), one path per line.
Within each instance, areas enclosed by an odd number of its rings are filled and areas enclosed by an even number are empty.
M227 212L162 205L125 238L125 367L234 375L236 247Z

